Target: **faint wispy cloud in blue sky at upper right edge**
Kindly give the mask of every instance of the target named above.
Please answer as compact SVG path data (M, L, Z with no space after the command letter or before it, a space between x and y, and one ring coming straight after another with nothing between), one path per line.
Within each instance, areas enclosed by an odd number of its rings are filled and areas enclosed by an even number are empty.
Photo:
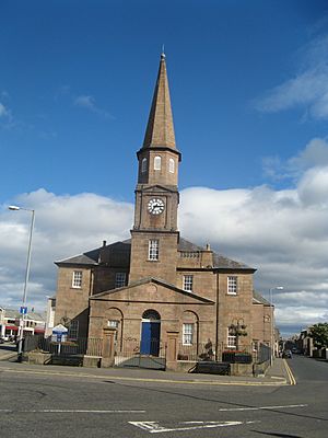
M317 119L328 118L328 36L311 42L302 53L302 70L255 102L263 113L303 108Z

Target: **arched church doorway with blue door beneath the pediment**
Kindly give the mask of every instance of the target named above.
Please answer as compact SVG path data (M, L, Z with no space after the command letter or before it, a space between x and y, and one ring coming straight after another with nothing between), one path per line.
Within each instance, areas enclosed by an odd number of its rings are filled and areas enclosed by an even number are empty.
M159 356L161 339L161 316L155 310L147 310L141 322L141 355Z

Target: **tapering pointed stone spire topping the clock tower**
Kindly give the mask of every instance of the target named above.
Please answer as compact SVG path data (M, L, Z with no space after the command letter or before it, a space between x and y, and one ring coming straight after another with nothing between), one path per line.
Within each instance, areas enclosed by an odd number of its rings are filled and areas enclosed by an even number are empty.
M164 47L142 149L176 149Z

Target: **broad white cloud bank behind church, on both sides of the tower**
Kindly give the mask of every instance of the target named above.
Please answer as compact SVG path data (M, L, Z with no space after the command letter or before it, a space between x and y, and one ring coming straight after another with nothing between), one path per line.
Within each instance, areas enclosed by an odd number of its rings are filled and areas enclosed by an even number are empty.
M255 287L266 297L269 288L284 286L273 292L284 333L328 319L328 164L323 160L317 165L317 158L326 157L321 147L324 141L313 140L290 160L305 168L290 189L191 187L181 192L181 235L200 245L210 242L216 252L256 267ZM90 193L57 196L39 189L11 204L36 210L28 290L36 308L55 293L54 261L97 247L103 240L129 238L133 220L131 204ZM30 219L27 211L8 211L5 206L0 214L3 306L17 307L22 297Z

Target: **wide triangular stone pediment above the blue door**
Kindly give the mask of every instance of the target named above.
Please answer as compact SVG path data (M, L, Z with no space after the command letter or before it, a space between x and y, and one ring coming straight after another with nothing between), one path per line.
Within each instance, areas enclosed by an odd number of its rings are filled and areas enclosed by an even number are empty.
M107 290L90 298L101 301L162 302L174 304L212 306L213 301L187 292L159 278L144 278L129 286Z

